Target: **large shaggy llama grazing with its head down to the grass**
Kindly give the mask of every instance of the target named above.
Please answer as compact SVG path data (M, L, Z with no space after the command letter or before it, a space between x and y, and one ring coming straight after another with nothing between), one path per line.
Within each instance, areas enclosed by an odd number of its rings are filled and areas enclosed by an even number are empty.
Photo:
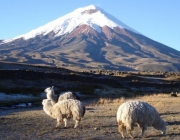
M124 138L124 130L134 138L131 131L135 124L142 129L142 137L148 126L166 132L166 123L161 119L157 110L146 102L129 101L121 104L117 111L118 130Z

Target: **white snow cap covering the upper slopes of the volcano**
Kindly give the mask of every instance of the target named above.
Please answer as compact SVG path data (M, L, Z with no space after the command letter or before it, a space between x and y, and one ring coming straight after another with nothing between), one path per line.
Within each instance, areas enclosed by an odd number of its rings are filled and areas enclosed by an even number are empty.
M66 14L65 16L62 16L52 22L47 23L44 26L28 32L27 34L17 36L13 39L4 40L3 42L7 43L22 37L27 40L37 35L46 35L51 31L56 34L55 36L60 36L72 32L76 27L82 24L89 25L99 33L101 32L101 27L105 25L110 27L111 29L118 26L120 28L125 28L127 30L138 33L112 15L106 13L101 8L90 5L87 7L78 8L73 12Z

